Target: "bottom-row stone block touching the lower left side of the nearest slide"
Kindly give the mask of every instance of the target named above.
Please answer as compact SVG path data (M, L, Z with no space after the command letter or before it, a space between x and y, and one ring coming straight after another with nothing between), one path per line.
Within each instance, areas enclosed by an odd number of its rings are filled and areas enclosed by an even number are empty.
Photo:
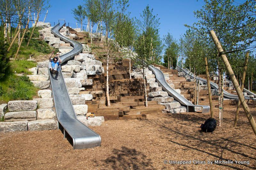
M53 119L33 120L28 122L29 131L55 130L57 124Z

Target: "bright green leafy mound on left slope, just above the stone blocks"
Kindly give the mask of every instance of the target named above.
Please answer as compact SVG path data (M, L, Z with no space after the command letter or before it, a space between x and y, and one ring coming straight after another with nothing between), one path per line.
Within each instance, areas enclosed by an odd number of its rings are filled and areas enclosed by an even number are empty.
M11 100L32 100L37 91L26 75L18 77L12 74L4 81L0 81L0 87L3 89L0 101L6 103Z

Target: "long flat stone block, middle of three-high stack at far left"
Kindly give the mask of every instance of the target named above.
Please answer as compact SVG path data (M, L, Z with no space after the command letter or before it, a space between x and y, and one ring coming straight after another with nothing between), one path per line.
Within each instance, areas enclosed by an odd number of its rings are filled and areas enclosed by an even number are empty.
M36 120L36 111L14 111L4 115L6 122L14 122L21 120Z

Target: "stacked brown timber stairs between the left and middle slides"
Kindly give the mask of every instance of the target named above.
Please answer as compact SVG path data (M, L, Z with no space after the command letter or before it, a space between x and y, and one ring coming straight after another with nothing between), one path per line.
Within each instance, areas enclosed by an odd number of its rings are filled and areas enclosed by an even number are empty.
M100 49L103 48L103 42L93 42ZM91 43L88 43L90 46ZM96 60L95 50L92 49ZM104 116L105 120L146 118L146 114L162 113L165 108L157 104L156 101L148 101L148 107L145 107L144 81L141 78L129 79L129 60L109 61L109 99L110 107L107 107L106 80L107 74L88 75L88 79L93 79L93 85L87 86L85 91L80 94L92 94L92 101L86 101L88 112L93 112L96 116ZM102 67L106 72L106 63L102 62ZM149 85L147 83L147 93Z

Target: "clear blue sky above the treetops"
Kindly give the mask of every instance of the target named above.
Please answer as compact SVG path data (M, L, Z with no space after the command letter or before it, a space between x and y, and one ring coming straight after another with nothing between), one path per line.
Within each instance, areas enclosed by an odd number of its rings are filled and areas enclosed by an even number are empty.
M51 8L45 22L50 22L52 25L58 23L58 19L63 18L71 27L76 27L76 20L73 17L72 9L79 4L83 4L83 0L50 0ZM193 11L200 9L204 5L203 0L130 0L127 11L131 12L131 17L140 18L140 13L147 5L153 8L153 14L158 14L160 18L160 36L170 32L175 39L179 39L180 35L184 34L187 28L184 24L192 25L196 22ZM43 13L46 13L44 11ZM42 14L39 21L44 20L45 14ZM87 22L86 22L87 23ZM78 23L77 23L78 24ZM78 24L78 28L80 25ZM85 29L85 28L84 28ZM96 27L93 28L96 30Z

